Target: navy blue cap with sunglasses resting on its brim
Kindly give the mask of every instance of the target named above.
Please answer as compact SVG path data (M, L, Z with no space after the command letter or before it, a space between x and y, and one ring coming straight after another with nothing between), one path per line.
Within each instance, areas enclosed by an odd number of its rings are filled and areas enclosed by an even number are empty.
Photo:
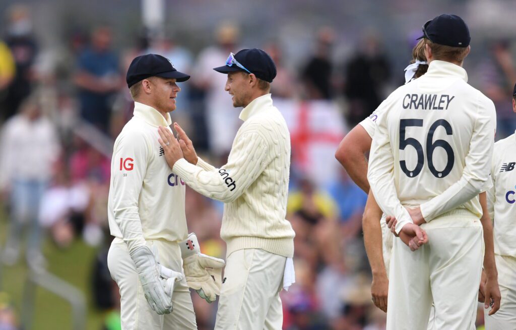
M276 65L274 64L274 61L265 51L261 49L243 49L236 53L234 58L238 61L238 64L243 66L245 69L239 67L236 64L231 66L226 64L225 66L217 67L213 70L220 73L228 73L233 71L249 72L253 73L257 78L265 80L269 83L272 83L272 80L276 77Z

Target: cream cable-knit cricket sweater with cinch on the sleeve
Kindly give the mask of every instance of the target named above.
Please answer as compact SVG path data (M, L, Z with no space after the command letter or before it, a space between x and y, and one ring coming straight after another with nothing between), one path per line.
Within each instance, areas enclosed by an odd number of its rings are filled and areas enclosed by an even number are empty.
M220 237L227 256L260 248L292 257L295 233L285 219L291 155L286 122L270 94L249 103L240 119L227 164L218 169L201 159L197 166L180 159L173 171L193 190L225 203Z

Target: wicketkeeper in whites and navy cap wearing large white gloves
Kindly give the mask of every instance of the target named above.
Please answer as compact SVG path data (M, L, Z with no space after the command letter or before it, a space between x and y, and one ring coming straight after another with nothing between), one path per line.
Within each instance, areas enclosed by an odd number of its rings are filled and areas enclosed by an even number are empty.
M188 285L209 300L218 293L207 268L220 272L224 262L201 255L195 235L187 237L185 183L157 143L158 127L170 130L177 83L189 77L155 54L136 57L127 70L134 116L115 141L108 199L115 239L107 261L122 329L196 329Z

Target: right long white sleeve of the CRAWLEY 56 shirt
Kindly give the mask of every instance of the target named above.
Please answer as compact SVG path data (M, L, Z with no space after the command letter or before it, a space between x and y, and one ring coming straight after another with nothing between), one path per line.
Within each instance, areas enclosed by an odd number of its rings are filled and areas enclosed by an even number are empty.
M477 118L462 176L442 194L421 205L421 213L427 222L446 211L457 208L481 193L489 179L496 114L491 100L484 102L479 100L477 104L479 104Z

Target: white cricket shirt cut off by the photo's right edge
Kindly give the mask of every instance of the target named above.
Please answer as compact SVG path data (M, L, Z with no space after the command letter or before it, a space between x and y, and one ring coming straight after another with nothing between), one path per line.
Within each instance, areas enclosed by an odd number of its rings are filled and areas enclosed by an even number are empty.
M516 258L516 135L494 144L487 191L489 215L494 220L494 253ZM516 271L516 270L515 270Z

